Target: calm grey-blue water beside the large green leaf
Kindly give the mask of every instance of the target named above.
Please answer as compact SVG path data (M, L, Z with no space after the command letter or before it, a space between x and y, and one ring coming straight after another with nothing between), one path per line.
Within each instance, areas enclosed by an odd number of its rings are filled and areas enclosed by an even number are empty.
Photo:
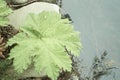
M114 65L120 68L120 0L63 0L75 29L81 32L83 49L80 58L90 66L95 55L105 50ZM115 71L120 80L120 71ZM101 80L113 80L105 76Z

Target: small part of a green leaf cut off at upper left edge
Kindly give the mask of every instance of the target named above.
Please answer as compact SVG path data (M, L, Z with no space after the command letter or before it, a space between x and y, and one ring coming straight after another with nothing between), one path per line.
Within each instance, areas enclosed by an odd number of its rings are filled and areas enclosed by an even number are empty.
M5 26L8 24L8 14L10 14L12 10L7 6L4 0L0 0L0 26Z

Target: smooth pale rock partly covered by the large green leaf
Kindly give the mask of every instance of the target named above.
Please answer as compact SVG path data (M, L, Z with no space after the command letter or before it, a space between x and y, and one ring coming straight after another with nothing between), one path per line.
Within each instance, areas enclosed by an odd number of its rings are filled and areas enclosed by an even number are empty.
M29 13L41 13L42 11L56 11L59 13L59 7L55 4L46 2L34 2L20 9L14 10L12 14L8 16L9 24L13 25L15 28L19 28L26 19Z

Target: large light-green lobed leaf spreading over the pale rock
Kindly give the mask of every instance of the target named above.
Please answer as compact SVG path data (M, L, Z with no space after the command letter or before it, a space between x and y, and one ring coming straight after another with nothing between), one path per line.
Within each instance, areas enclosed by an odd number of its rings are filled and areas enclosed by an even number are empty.
M8 45L17 43L9 57L14 58L15 70L22 73L34 62L35 70L44 71L52 80L57 80L62 69L71 71L72 61L65 47L78 56L81 43L79 32L68 19L61 19L56 12L31 13L20 29L22 32L8 41Z

